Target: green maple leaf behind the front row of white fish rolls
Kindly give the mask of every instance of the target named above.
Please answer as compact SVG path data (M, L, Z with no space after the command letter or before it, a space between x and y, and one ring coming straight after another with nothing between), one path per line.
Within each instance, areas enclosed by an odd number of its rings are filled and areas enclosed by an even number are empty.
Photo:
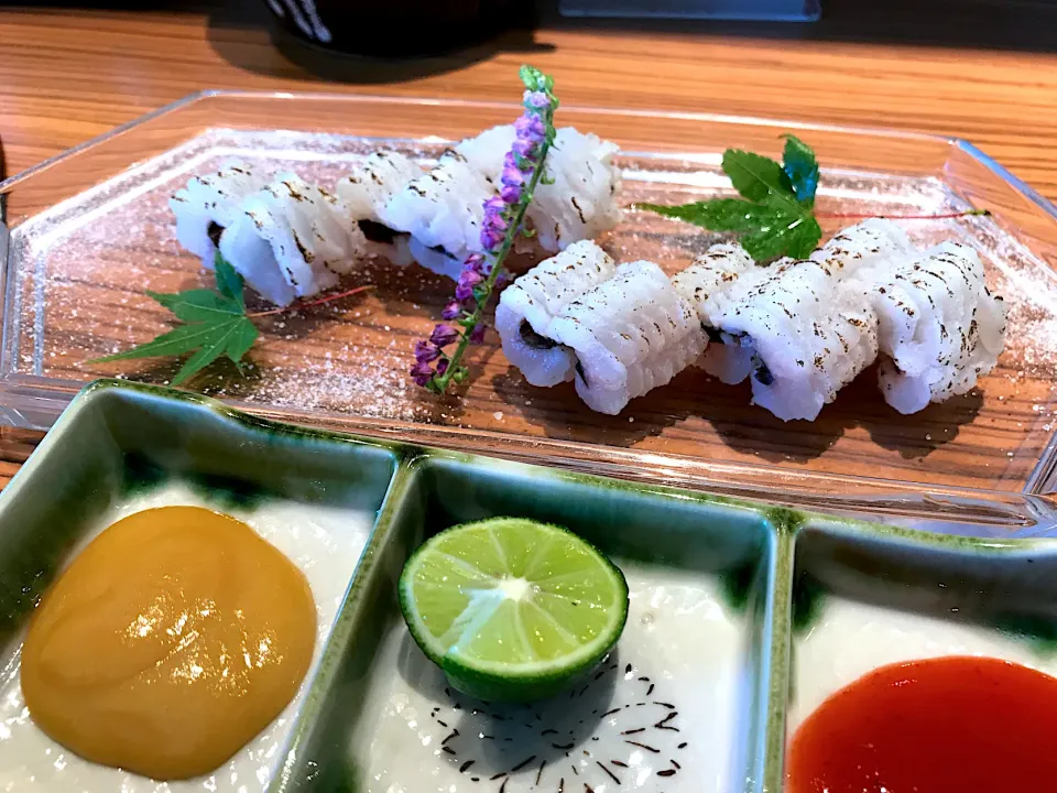
M786 135L784 163L728 149L723 172L744 198L713 198L678 206L639 204L640 209L712 231L733 231L756 261L782 256L803 259L822 237L813 206L818 162L803 141Z

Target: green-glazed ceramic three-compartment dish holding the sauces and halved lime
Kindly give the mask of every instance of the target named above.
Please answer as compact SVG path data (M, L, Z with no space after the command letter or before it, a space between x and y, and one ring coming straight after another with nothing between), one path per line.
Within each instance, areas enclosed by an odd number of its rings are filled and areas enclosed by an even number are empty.
M1057 671L1049 540L909 532L351 437L122 381L87 387L0 496L0 669L88 535L122 510L182 499L255 520L292 557L319 562L305 692L217 790L235 774L270 791L777 793L791 730L875 665L979 651ZM565 525L629 580L617 650L553 702L446 689L400 617L412 551L498 515ZM307 530L284 539L302 523L337 544L312 545ZM43 746L0 737L0 768L34 773ZM77 779L77 762L39 774L40 790Z

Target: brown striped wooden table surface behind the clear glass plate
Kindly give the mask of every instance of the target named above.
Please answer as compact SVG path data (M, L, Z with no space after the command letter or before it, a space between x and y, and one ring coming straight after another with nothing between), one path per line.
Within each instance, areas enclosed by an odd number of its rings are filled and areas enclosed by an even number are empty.
M856 9L852 19L828 4L818 25L545 24L445 57L353 62L337 83L280 54L263 3L249 0L170 11L0 8L0 139L14 174L201 89L509 99L512 75L531 59L556 77L567 104L963 137L1057 197L1053 3L870 6L872 15ZM940 43L920 41L928 37ZM0 431L0 482L39 437Z

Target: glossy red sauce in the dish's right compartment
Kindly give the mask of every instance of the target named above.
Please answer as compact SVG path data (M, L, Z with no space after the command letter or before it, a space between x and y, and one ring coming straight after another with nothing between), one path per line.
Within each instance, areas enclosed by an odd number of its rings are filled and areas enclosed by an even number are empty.
M815 710L786 793L1057 791L1057 677L996 659L883 666Z

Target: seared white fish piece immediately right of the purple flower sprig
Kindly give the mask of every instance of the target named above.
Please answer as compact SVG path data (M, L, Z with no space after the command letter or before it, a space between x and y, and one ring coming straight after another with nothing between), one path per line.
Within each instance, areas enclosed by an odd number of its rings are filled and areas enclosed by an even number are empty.
M536 185L525 216L544 250L563 250L598 237L620 222L615 200L620 169L613 163L615 143L563 127L546 160L547 181Z

